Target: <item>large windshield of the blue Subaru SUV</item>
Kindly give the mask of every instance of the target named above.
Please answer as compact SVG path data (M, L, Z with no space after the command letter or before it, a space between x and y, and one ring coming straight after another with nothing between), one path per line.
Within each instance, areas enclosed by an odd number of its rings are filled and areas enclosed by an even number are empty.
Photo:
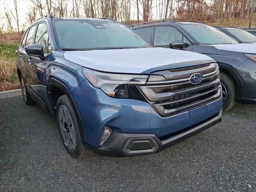
M136 32L118 22L61 19L54 20L53 27L62 50L151 47Z

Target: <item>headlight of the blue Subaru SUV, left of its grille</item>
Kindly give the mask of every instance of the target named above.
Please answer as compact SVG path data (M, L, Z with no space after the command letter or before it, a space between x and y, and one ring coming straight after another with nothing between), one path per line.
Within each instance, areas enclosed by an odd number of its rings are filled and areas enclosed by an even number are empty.
M106 73L84 67L83 74L93 86L114 98L129 98L127 85L146 84L148 79L148 75Z

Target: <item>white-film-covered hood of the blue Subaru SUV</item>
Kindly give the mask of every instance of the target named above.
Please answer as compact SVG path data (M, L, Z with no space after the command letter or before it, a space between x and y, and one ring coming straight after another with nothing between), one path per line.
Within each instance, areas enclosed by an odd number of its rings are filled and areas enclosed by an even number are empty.
M66 51L64 58L78 65L94 70L116 73L149 73L150 69L173 68L177 63L186 66L212 58L194 52L168 48L132 48L89 51ZM160 67L160 68L158 68ZM179 67L179 66L178 66ZM180 67L184 67L181 66Z

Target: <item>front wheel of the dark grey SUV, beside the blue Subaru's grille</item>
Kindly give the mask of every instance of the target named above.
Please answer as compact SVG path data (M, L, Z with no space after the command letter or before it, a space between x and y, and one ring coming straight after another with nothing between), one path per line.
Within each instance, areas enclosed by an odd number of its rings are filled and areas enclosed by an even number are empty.
M223 97L222 109L228 111L236 104L236 83L230 75L224 72L220 72L220 81Z

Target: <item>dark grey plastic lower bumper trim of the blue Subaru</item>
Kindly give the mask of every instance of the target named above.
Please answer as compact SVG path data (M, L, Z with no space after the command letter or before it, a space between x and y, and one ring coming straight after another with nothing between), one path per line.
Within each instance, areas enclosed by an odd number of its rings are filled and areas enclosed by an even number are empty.
M222 110L211 118L162 140L155 134L124 134L113 132L107 142L98 148L89 144L85 145L93 152L103 156L124 157L154 154L214 126L221 122L221 120ZM134 147L135 145L136 147Z

